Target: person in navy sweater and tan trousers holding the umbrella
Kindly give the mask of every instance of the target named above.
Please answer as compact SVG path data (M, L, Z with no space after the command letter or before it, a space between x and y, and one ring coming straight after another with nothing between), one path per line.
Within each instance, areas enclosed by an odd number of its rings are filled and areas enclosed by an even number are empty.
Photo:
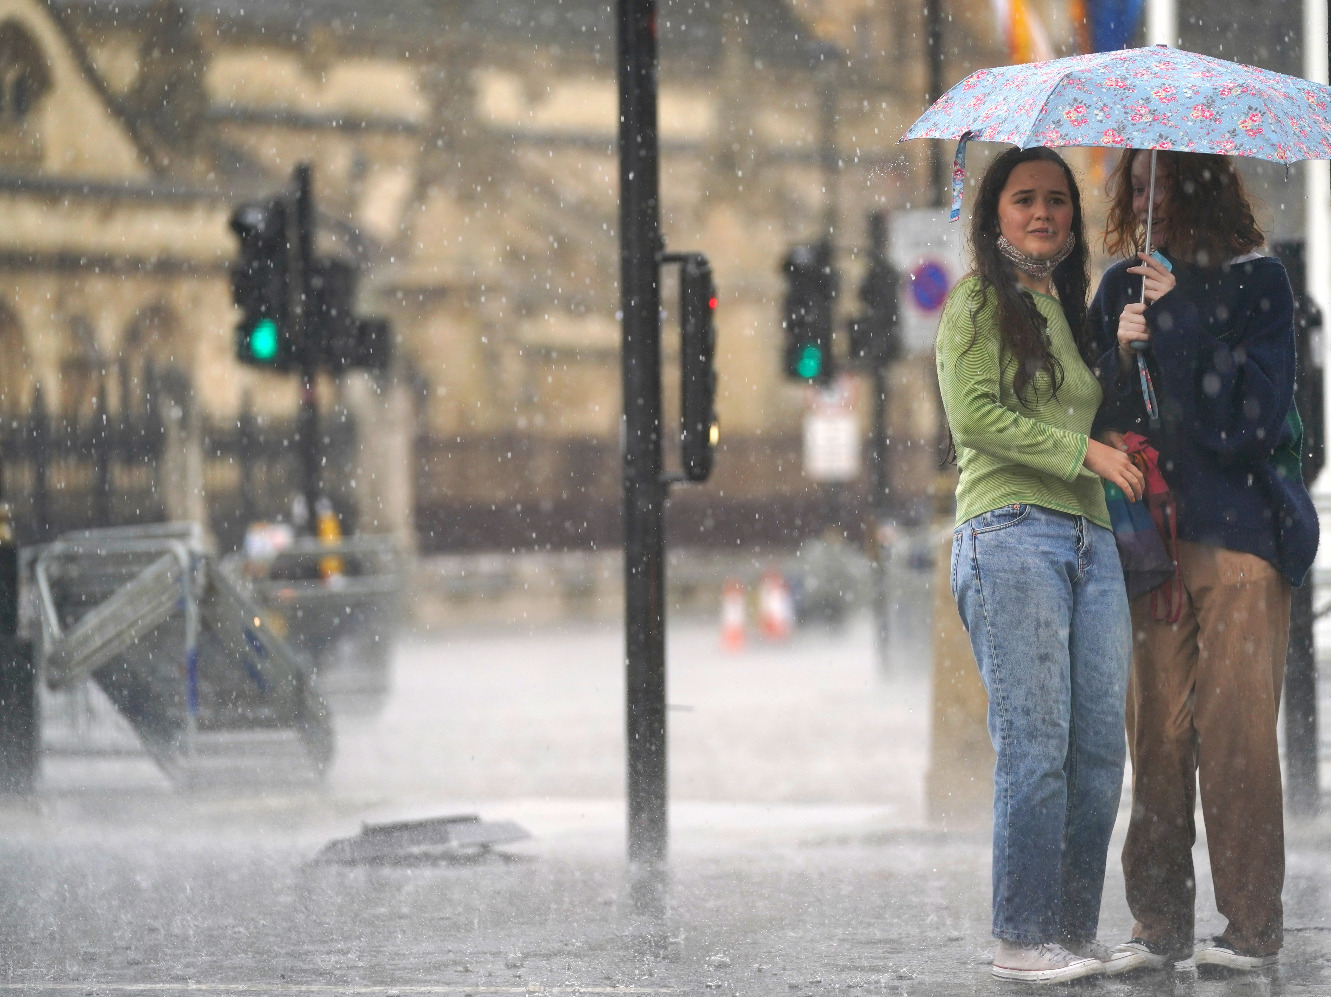
M1150 161L1129 149L1111 178L1106 248L1135 257L1110 268L1091 302L1106 387L1099 425L1110 427L1101 439L1115 445L1134 430L1159 451L1182 582L1154 604L1151 594L1131 604L1123 873L1137 924L1119 952L1151 968L1194 954L1199 776L1215 904L1229 925L1197 964L1252 970L1274 964L1282 945L1276 715L1290 586L1318 543L1299 469L1294 299L1284 268L1258 252L1264 238L1223 156L1159 154L1151 241L1173 270L1138 253ZM1159 294L1150 306L1137 303L1143 277ZM1134 343L1146 346L1157 429Z

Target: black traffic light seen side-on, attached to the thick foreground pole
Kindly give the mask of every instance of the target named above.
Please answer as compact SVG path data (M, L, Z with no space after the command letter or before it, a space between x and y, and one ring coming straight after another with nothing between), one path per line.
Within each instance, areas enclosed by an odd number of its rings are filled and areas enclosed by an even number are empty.
M680 447L684 477L707 481L720 429L716 423L716 285L701 253L685 253L679 270Z

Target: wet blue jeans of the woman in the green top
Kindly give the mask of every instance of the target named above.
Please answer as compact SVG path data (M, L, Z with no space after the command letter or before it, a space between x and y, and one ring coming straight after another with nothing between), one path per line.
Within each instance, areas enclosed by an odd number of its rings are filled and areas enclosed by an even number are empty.
M1114 535L1016 504L962 523L952 594L989 690L994 937L1095 937L1131 662Z

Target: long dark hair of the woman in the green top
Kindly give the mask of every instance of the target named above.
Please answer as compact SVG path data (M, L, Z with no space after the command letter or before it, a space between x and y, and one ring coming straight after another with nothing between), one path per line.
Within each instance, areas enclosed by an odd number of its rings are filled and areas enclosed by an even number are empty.
M1036 299L1030 292L1017 282L1016 268L998 250L998 237L1002 234L998 228L998 197L1008 186L1008 177L1012 176L1012 172L1022 162L1033 161L1057 162L1067 177L1067 192L1073 198L1073 252L1054 268L1054 289L1058 292L1063 315L1067 317L1067 325L1073 331L1077 351L1087 363L1091 362L1089 355L1091 353L1090 321L1086 315L1086 297L1090 292L1086 261L1090 253L1086 249L1086 226L1082 221L1081 192L1077 189L1077 180L1067 164L1063 162L1062 156L1053 149L1040 145L1034 149L1008 149L985 170L970 218L972 273L981 280L980 301L972 313L976 331L970 345L974 346L976 337L980 335L980 311L988 306L989 296L993 294L998 305L998 333L1002 353L1006 354L1001 362L1006 363L1006 357L1016 361L1013 390L1021 403L1029 409L1040 403L1034 381L1042 371L1049 375L1051 397L1057 398L1058 389L1063 385L1063 366L1049 349L1046 335L1049 323L1036 307ZM1028 393L1030 393L1029 402L1026 401Z

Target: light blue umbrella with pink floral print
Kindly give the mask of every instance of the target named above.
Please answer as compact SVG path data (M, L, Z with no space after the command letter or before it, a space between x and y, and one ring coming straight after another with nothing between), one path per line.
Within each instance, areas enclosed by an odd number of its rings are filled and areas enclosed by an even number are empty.
M952 170L953 221L961 217L970 138L1024 149L1150 149L1149 249L1157 150L1284 164L1328 160L1331 87L1166 45L1130 48L980 69L934 101L901 141L908 138L958 140ZM1154 419L1154 391L1141 357L1138 371Z

